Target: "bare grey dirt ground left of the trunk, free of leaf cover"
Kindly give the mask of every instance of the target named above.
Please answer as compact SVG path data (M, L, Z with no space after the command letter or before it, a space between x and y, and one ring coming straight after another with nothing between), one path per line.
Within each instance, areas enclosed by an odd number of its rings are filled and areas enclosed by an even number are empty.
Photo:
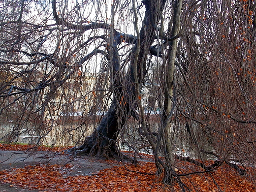
M89 157L74 157L45 151L0 151L0 170L37 164L73 164L72 169L64 175L66 177L72 175L91 175L99 170L111 167L111 164L107 161ZM0 183L0 192L27 191L28 189L10 187L10 184ZM39 190L30 190L29 192L39 192Z

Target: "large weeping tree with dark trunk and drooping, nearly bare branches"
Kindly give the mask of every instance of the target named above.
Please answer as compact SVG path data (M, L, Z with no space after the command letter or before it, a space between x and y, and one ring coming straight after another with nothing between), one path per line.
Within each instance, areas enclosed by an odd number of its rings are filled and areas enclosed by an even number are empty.
M135 150L127 138L139 137L164 181L176 178L183 190L176 158L205 171L226 162L243 174L230 160L255 166L255 1L111 3L1 2L0 115L13 124L2 139L75 134L83 140L75 154L121 158L118 143ZM158 130L145 114L146 83L160 108ZM207 167L177 155L177 140L198 159L219 161Z

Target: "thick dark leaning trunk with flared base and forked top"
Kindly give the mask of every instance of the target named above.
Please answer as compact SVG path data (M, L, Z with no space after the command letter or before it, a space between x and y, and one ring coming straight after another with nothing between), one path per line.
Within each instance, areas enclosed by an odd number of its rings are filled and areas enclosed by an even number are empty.
M150 47L155 39L156 24L159 18L154 7L160 4L162 11L165 0L143 0L146 8L143 25L139 32L138 41L134 44L130 54L130 67L124 81L119 79L118 70L120 68L119 56L115 44L112 50L113 65L113 100L108 112L104 115L99 126L92 135L85 139L84 145L73 148L76 154L86 154L90 156L105 156L106 158L116 158L121 154L116 148L116 140L120 129L123 128L129 116L136 117L139 120L135 110L138 107L138 85L144 79L147 55L150 54ZM112 42L118 42L112 41ZM137 46L140 46L139 52L136 53ZM136 57L134 57L136 55ZM136 59L135 59L136 58ZM136 71L134 71L134 66ZM134 74L136 76L134 76ZM135 86L135 84L137 84ZM125 86L125 87L124 87ZM117 88L118 87L118 88ZM120 88L121 87L121 88ZM122 102L121 101L122 99ZM142 123L139 120L139 123ZM152 142L153 144L153 142Z

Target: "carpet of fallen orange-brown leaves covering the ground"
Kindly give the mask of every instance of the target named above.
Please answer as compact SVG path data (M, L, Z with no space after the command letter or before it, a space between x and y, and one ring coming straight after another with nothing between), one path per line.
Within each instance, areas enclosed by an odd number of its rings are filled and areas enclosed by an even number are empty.
M33 146L0 144L0 151L26 151ZM37 150L61 152L63 148L39 147ZM59 153L59 156L66 156ZM175 184L168 187L156 176L156 167L149 155L142 155L143 160L137 166L130 162L96 160L111 164L110 168L92 172L90 175L67 174L74 164L37 164L24 167L11 167L0 171L0 184L10 187L34 190L36 192L179 192ZM1 163L1 162L0 162ZM212 162L207 162L212 163ZM1 165L1 164L0 164ZM83 167L81 167L83 169ZM190 162L178 161L175 171L184 174L203 171ZM186 189L192 192L255 192L256 186L249 178L255 170L247 169L246 175L239 175L226 164L211 173L192 174L181 177ZM188 190L189 191L189 190Z

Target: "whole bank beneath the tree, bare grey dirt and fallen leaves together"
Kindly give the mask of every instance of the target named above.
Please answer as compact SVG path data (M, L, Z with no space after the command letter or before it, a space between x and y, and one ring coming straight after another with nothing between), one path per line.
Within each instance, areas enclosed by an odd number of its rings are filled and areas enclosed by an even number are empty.
M61 153L61 148L24 150L27 147L0 144L1 192L180 191L178 184L169 188L161 182L161 176L155 175L154 161L148 155L134 166L130 162L74 158ZM15 148L23 151L13 150ZM178 161L175 171L184 174L203 170L189 162ZM248 169L248 174L252 176L255 170ZM192 174L181 177L181 180L191 191L217 192L221 189L224 192L254 192L256 188L247 175L241 176L224 164L214 172Z

